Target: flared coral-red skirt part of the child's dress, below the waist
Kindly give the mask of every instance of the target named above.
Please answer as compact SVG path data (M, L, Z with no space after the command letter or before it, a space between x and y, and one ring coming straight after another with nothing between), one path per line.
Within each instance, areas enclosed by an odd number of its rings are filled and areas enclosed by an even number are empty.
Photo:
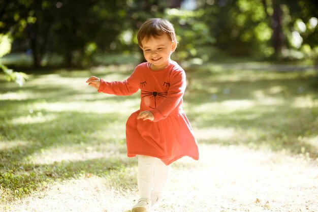
M185 113L169 115L159 122L137 119L139 110L126 123L127 156L146 155L165 164L188 156L199 160L199 150Z

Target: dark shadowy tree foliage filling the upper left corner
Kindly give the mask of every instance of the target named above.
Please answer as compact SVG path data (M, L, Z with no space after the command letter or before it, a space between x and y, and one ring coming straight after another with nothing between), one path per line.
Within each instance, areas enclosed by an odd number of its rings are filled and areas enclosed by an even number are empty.
M50 53L62 55L68 66L85 65L88 60L83 57L98 47L107 48L122 31L125 4L125 0L0 0L0 33L25 40L35 68Z

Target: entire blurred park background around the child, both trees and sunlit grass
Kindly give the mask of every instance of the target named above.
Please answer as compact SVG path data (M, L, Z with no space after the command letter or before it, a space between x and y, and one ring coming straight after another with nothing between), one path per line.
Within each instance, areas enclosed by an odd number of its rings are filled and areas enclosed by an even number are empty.
M174 164L167 211L317 211L317 0L0 0L0 211L130 211L140 94L85 81L128 78L153 17L201 157Z

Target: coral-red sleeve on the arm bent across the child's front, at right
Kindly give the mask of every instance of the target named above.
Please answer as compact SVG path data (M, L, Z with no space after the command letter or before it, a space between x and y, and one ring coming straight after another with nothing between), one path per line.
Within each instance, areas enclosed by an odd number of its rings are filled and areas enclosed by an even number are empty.
M163 100L158 107L151 110L154 116L154 122L166 118L176 107L181 107L182 97L186 87L185 73L183 70L174 71L170 79L167 98Z

